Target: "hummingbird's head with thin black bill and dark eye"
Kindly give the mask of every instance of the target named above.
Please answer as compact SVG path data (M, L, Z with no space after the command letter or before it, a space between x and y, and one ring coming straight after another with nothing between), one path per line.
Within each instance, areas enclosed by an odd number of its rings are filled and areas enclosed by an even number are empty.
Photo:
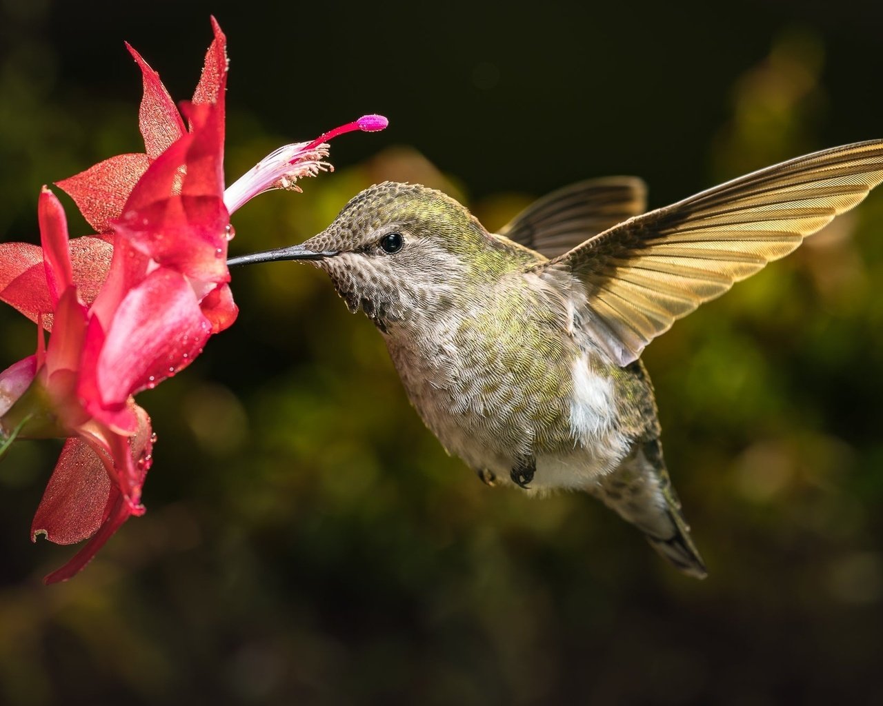
M358 193L327 229L291 248L230 265L309 259L331 277L352 312L391 324L432 317L512 267L494 237L463 206L419 184L384 182Z

